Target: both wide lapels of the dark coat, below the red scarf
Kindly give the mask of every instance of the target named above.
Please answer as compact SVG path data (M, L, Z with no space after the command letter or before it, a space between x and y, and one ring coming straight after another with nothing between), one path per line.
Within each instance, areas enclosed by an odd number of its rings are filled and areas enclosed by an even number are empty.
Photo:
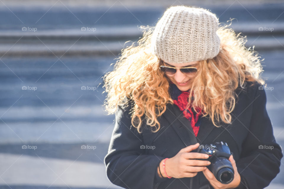
M202 144L206 137L214 129L213 123L206 117L199 117L201 119L201 125L199 127L197 137L194 135L191 124L187 118L183 116L182 111L175 104L167 104L166 111L163 113L164 117L170 123L170 126L175 130L180 139L186 146L196 144Z

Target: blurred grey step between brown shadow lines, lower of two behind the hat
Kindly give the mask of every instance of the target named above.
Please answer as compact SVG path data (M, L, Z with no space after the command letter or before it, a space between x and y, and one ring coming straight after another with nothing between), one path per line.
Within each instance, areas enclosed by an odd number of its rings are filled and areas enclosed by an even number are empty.
M138 32L137 32L138 33ZM133 35L135 36L135 35ZM9 40L0 44L0 56L75 56L75 55L114 55L118 56L121 50L130 46L137 38L119 40L90 39L87 36L77 36L74 39L33 38L27 40L19 37L18 40ZM277 50L284 48L284 36L267 35L261 33L249 35L246 46L255 46L255 50Z

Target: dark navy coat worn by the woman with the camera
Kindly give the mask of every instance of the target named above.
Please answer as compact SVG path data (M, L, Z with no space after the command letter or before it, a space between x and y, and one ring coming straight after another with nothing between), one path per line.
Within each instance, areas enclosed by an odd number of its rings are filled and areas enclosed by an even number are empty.
M176 105L168 104L163 115L158 117L161 124L158 132L146 129L148 127L143 121L145 129L141 134L131 126L130 106L120 107L116 112L108 154L104 158L109 180L130 189L211 188L202 172L191 178L160 178L157 167L162 159L175 156L186 146L223 141L233 153L241 175L239 188L265 188L279 173L283 157L267 114L266 94L258 83L245 90L238 88L236 93L238 98L231 113L233 123L222 122L222 127L218 128L208 117L200 116L202 122L197 137ZM261 148L259 145L266 146ZM149 146L155 148L149 149ZM267 146L273 146L273 149L265 149Z

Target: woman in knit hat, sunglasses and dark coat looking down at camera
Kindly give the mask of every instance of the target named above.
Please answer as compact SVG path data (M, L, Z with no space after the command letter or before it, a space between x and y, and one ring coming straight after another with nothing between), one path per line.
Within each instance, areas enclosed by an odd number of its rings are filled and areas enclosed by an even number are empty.
M283 157L266 110L260 60L215 14L172 6L104 76L106 110L116 115L106 174L135 189L264 188ZM228 184L201 144L224 142ZM230 154L229 154L230 155Z

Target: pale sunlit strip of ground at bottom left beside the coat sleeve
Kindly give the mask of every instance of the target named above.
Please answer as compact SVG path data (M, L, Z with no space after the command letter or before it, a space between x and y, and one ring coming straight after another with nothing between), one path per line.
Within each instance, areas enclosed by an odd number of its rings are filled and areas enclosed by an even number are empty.
M0 185L46 186L45 188L121 188L110 183L102 161L100 163L80 161L80 157L85 153L82 150L82 154L79 154L75 161L21 154L0 154L3 173Z

